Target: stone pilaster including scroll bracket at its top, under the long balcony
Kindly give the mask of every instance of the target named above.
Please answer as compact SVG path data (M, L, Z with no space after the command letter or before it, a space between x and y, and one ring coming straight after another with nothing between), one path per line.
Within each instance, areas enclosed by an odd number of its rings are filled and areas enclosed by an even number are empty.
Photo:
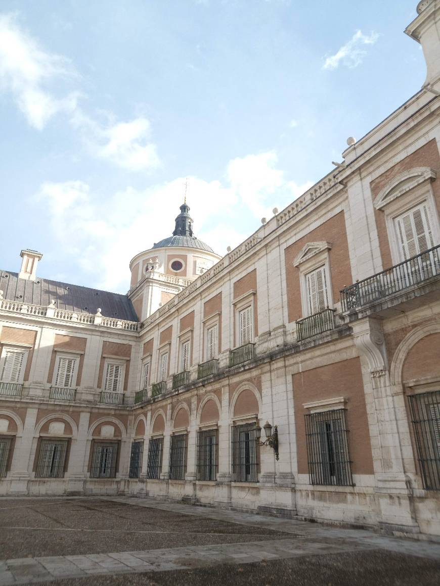
M352 328L361 353L380 524L385 529L418 533L409 478L405 475L382 323L367 317L353 322Z

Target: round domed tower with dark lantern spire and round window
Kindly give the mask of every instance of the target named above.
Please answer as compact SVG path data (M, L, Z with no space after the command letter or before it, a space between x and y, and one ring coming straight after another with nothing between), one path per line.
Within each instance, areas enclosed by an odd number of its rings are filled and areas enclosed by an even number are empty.
M131 259L128 297L140 321L188 287L221 258L208 244L194 236L192 222L185 200L175 219L172 236Z

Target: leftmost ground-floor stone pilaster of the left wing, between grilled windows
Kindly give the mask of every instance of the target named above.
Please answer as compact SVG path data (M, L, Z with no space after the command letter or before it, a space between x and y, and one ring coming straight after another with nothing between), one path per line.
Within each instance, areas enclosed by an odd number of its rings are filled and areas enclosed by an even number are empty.
M32 477L31 452L33 436L35 431L38 408L29 408L26 411L25 424L21 438L17 438L12 456L11 472L11 494L28 494L28 481Z

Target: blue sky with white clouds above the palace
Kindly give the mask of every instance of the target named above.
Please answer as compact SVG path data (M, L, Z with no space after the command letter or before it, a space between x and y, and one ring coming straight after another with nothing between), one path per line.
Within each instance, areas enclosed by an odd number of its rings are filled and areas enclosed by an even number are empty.
M2 0L0 267L126 292L171 236L238 246L417 93L415 0Z

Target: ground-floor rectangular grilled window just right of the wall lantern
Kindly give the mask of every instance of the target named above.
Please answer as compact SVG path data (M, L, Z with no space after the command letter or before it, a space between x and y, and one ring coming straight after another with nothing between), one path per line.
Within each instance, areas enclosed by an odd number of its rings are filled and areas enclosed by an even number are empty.
M345 411L305 415L310 484L353 486Z

